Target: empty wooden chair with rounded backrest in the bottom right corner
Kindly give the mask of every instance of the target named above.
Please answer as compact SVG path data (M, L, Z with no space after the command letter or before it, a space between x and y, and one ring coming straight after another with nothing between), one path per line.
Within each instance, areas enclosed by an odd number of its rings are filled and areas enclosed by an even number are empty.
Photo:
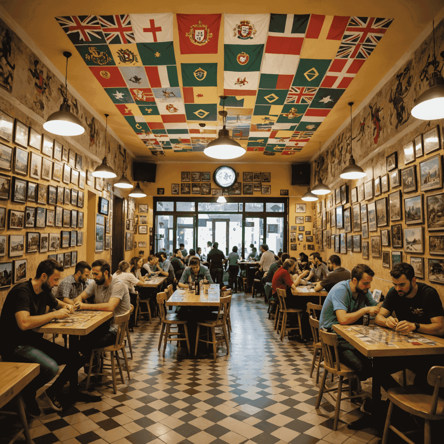
M403 432L390 424L393 404L396 404L399 408L404 410L404 412L424 418L424 444L432 444L430 421L444 420L444 400L438 397L438 390L440 387L444 387L444 367L437 365L432 367L428 372L427 382L429 385L434 386L432 395L421 393L412 385L389 389L387 396L389 397L390 405L389 411L387 412L387 419L385 420L382 444L387 444L388 442L389 429L393 430L393 432L400 436L405 442L410 444L413 443L413 441L409 440Z

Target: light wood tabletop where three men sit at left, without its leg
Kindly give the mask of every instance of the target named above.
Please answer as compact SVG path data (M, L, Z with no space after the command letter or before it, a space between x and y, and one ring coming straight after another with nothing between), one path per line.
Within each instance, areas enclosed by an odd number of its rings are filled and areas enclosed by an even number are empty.
M85 336L113 316L114 312L112 311L75 311L69 317L56 319L33 330L37 333L59 333Z

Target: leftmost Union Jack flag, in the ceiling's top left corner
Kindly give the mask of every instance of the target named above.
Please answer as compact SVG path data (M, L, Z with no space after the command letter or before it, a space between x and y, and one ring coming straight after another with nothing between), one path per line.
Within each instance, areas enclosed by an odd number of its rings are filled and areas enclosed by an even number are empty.
M63 16L56 17L56 20L73 44L105 43L96 16Z

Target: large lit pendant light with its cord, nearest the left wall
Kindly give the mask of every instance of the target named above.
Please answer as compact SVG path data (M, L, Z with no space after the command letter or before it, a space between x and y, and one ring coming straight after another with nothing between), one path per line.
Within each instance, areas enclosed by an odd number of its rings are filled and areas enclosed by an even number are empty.
M60 110L53 112L43 127L46 131L59 136L78 136L85 132L85 128L82 126L80 119L71 113L71 107L68 105L68 59L72 56L71 52L63 52L63 56L66 57L66 73L65 73L65 97L63 97L63 103L60 105Z

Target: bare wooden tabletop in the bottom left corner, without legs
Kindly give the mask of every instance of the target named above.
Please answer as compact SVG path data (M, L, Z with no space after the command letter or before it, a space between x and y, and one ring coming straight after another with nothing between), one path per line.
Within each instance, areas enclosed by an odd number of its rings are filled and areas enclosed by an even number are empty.
M0 362L0 372L0 407L3 407L40 373L40 364Z

